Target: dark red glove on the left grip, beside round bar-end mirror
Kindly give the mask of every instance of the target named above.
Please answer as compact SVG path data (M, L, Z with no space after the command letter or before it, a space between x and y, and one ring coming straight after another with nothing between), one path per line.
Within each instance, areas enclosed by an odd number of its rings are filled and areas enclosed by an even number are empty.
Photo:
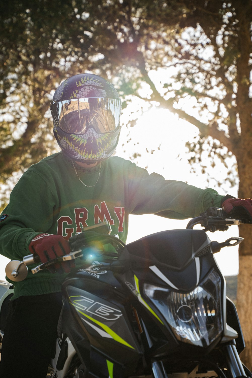
M64 256L71 252L68 242L61 235L54 234L40 234L32 239L29 244L29 251L31 253L37 253L42 263L56 259L59 256ZM55 273L56 270L59 273L69 273L71 268L74 268L73 261L65 261L62 263L56 263L47 269L51 273Z

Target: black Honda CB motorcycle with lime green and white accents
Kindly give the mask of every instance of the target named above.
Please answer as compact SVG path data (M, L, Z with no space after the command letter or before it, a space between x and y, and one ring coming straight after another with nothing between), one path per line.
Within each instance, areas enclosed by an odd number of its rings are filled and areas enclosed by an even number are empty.
M32 268L75 260L62 285L52 378L252 377L235 305L214 253L243 238L211 242L206 231L252 223L210 208L186 229L157 232L125 245L109 223L69 239L72 252ZM195 225L204 229L193 229ZM11 261L6 275L25 279L34 255ZM12 287L0 285L0 335Z

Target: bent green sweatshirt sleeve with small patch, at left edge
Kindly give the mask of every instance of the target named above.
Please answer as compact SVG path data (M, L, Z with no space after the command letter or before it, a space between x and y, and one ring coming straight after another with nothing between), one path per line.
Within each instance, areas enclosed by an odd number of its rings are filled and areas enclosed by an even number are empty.
M0 222L0 254L22 260L29 243L53 222L53 195L49 185L33 170L26 171L10 195Z

